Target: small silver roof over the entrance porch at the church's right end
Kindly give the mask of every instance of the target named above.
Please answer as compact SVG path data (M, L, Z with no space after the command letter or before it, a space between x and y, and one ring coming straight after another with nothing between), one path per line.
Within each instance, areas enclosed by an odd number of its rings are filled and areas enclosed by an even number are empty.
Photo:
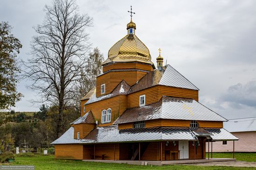
M239 140L239 138L235 137L225 129L218 128L204 128L212 135L210 136L213 141L223 141L223 140Z

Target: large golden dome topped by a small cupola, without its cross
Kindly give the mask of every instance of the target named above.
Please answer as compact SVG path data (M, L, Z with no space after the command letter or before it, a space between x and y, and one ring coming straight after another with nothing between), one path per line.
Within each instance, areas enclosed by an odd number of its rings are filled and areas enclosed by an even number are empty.
M102 65L109 62L141 62L154 66L148 47L135 35L134 22L127 24L128 34L120 39L108 51L108 59Z

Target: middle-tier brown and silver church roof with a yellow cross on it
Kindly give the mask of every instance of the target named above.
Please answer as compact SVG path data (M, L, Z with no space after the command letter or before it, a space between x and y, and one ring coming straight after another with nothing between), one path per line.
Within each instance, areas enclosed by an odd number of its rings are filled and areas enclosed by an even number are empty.
M163 96L157 103L127 109L114 124L152 119L227 121L193 99Z

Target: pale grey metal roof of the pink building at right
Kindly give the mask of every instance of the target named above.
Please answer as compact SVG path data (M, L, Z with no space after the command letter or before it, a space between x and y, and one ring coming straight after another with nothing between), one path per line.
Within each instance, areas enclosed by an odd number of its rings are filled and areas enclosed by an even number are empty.
M224 122L229 132L256 131L256 118L237 118Z

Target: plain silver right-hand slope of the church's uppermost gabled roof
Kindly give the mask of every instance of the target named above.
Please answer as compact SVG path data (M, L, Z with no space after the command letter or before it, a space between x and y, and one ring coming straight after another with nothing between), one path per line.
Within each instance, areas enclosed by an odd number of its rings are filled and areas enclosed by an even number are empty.
M172 66L166 65L165 72L159 82L159 85L167 85L172 87L180 87L186 89L199 90L187 78L182 76L181 73L176 71Z

